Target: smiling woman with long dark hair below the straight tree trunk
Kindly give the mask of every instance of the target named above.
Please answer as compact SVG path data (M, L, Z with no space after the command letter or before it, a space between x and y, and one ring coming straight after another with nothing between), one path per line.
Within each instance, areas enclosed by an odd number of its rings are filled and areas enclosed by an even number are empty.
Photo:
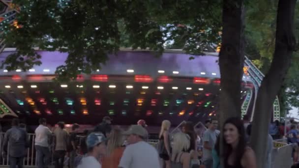
M254 151L245 142L243 122L238 117L228 118L222 133L224 168L256 168Z

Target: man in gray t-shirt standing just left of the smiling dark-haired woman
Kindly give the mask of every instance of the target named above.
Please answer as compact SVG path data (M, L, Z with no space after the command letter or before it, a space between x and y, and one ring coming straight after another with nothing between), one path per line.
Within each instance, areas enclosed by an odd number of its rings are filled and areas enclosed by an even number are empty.
M217 136L219 135L219 131L216 130L217 126L218 121L216 119L211 120L209 129L204 133L203 164L206 166L206 168L213 167L212 148L214 147Z

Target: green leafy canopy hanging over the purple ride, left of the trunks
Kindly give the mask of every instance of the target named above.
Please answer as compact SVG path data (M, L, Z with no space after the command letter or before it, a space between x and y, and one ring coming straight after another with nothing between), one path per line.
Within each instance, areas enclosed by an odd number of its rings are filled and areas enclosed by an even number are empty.
M60 80L100 69L120 47L182 48L202 54L220 41L220 0L14 0L21 7L8 25L6 43L17 49L7 70L41 64L33 47L68 52L57 68Z

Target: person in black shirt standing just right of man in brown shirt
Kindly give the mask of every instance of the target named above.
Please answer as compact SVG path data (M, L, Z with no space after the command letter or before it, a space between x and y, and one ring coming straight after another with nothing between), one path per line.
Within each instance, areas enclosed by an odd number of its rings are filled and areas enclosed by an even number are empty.
M70 156L69 156L69 168L74 168L74 160L77 155L77 149L79 145L79 140L77 138L77 133L79 131L79 124L73 124L72 132L70 134Z

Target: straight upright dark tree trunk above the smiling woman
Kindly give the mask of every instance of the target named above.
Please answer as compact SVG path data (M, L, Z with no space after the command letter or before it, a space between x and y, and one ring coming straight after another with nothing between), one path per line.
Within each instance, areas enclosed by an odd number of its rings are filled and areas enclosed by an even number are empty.
M219 54L220 125L226 118L241 115L240 90L244 64L243 0L224 0L222 43Z

